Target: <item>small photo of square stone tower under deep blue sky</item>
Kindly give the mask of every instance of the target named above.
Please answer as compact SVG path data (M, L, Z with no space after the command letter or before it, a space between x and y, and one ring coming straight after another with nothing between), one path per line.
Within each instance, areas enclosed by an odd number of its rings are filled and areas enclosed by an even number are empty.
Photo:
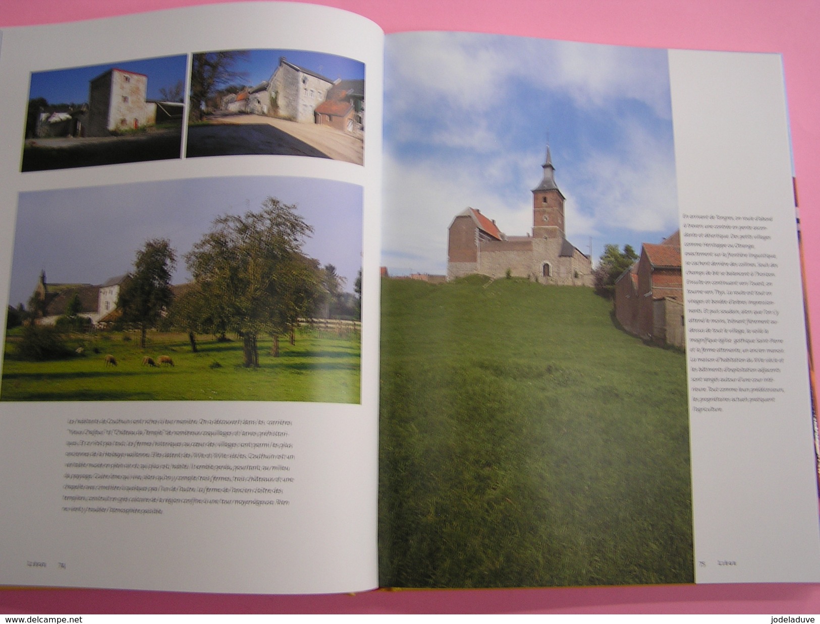
M31 75L22 171L181 157L185 56Z

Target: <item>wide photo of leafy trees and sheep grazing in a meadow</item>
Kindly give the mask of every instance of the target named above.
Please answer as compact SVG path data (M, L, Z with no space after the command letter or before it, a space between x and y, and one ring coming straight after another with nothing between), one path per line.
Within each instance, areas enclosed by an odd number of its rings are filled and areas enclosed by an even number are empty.
M0 400L359 403L362 188L23 192Z

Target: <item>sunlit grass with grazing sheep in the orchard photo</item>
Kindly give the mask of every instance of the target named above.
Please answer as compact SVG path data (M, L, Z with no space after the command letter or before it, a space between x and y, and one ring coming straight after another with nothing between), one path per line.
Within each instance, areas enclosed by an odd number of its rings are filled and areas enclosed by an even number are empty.
M123 336L133 340L123 340ZM14 359L14 330L6 340L0 400L276 400L359 403L361 345L358 335L303 329L295 344L280 338L280 356L271 355L271 340L259 341L259 368L242 366L242 341L199 340L193 353L187 334L149 332L139 348L139 332L71 335L72 349L84 344L84 355L71 359L26 362ZM93 353L93 347L100 351ZM105 364L113 355L115 366ZM169 355L174 366L157 364Z

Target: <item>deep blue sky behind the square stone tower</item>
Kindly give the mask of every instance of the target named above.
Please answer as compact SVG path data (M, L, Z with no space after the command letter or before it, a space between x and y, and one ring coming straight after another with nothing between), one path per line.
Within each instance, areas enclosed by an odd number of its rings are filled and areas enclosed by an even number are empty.
M66 70L38 71L31 75L29 99L45 97L50 104L81 104L89 101L89 81L112 68L134 71L148 76L148 99L159 99L161 88L174 86L182 80L188 57L147 58L139 61L121 61L107 65L74 67Z

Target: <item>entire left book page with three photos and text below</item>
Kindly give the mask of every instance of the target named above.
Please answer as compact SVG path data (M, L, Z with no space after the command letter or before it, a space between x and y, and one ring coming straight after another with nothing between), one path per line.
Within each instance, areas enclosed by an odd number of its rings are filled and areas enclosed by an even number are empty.
M382 47L289 3L2 31L0 584L376 586Z

